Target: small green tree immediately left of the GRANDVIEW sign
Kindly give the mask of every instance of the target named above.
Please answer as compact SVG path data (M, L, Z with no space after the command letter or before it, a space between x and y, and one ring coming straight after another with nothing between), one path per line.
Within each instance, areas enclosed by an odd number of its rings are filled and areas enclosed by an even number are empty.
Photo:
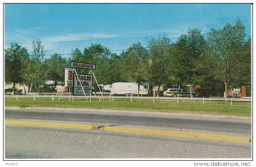
M65 80L64 69L68 67L68 62L65 58L55 53L48 60L45 60L45 64L49 70L49 80L54 81L55 86L58 81Z

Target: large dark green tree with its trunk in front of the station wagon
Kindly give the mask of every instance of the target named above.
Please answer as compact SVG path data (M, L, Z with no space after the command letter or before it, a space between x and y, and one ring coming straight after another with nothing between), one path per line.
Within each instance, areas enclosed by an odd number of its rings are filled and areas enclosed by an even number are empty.
M180 36L174 49L174 75L184 84L190 85L192 97L191 87L201 82L201 76L204 75L204 70L199 67L207 50L207 42L199 29L189 29L187 34Z

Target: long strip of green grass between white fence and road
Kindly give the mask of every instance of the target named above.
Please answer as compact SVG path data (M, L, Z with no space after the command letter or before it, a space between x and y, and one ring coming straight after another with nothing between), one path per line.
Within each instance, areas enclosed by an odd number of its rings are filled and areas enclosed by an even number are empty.
M251 117L251 102L234 102L230 101L202 101L180 100L177 104L176 100L138 100L118 99L109 101L104 98L99 101L98 98L92 98L91 101L85 101L82 98L74 98L74 101L68 101L68 98L60 100L51 98L18 98L5 97L5 106L8 107L71 107L71 108L87 108L87 109L117 109L129 111L157 111L157 112L180 112L189 114L218 114L218 115L236 115Z

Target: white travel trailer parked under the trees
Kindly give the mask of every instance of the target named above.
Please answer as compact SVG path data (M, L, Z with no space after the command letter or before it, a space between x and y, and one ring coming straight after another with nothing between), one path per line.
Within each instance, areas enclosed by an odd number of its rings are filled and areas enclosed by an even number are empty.
M149 86L147 83L140 85L139 95L148 95ZM111 86L111 95L126 95L133 96L138 95L137 83L113 83Z

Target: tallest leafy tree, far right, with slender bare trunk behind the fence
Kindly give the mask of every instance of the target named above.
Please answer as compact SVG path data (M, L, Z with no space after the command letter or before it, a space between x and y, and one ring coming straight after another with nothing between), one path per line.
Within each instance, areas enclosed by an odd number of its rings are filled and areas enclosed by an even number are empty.
M223 29L213 29L212 32L208 33L207 41L210 44L210 49L219 58L218 77L224 83L226 92L224 97L227 97L227 87L229 84L236 83L241 77L240 67L245 66L243 61L244 53L241 53L245 35L245 26L241 24L240 20L236 21L235 26L226 24ZM251 47L249 47L248 52L251 52ZM247 55L251 55L248 52ZM251 69L249 57L251 56L247 56L246 61ZM244 74L248 76L248 73L250 75L251 70Z

